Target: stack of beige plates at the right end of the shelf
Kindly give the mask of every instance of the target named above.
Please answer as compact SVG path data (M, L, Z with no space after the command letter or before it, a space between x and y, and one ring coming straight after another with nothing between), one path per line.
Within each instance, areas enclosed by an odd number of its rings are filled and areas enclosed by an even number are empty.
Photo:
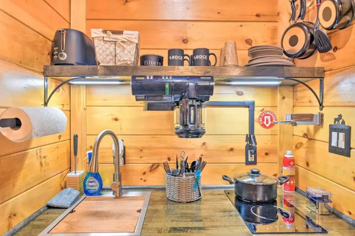
M288 57L283 56L283 48L276 46L254 46L248 49L251 58L246 67L294 67Z

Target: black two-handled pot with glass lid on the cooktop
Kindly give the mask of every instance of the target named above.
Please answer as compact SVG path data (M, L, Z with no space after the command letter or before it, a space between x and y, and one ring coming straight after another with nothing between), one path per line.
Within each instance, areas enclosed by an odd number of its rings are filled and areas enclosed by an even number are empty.
M277 185L282 185L290 180L288 176L284 175L275 178L272 175L261 174L258 169L235 174L233 180L228 175L223 175L222 179L234 184L234 192L237 197L256 203L275 200L277 198Z

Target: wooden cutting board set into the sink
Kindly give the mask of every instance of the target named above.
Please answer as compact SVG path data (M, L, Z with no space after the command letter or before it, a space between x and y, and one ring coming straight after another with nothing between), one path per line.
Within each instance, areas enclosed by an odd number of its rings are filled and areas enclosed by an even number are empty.
M50 233L134 232L144 198L86 197Z

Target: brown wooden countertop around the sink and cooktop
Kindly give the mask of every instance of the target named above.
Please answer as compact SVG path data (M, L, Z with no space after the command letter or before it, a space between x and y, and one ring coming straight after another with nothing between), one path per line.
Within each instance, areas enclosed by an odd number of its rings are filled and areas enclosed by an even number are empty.
M280 193L282 192L281 189L279 189L279 191ZM202 199L200 201L193 203L177 203L166 199L165 191L152 191L141 235L253 235L223 190L203 190L202 194ZM292 200L293 202L291 203L295 207L306 213L318 224L328 230L328 234L315 235L355 235L355 226L346 223L346 221L337 216L317 216L310 211L305 204L306 198L301 194L294 193ZM64 211L65 209L48 209L25 226L16 235L38 235ZM269 236L271 234L267 235ZM310 234L288 235L309 236Z

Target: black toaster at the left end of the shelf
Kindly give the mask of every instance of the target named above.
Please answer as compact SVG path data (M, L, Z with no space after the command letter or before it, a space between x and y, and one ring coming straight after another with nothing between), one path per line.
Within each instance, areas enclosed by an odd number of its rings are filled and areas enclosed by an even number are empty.
M96 65L93 41L75 29L58 29L52 43L51 65Z

